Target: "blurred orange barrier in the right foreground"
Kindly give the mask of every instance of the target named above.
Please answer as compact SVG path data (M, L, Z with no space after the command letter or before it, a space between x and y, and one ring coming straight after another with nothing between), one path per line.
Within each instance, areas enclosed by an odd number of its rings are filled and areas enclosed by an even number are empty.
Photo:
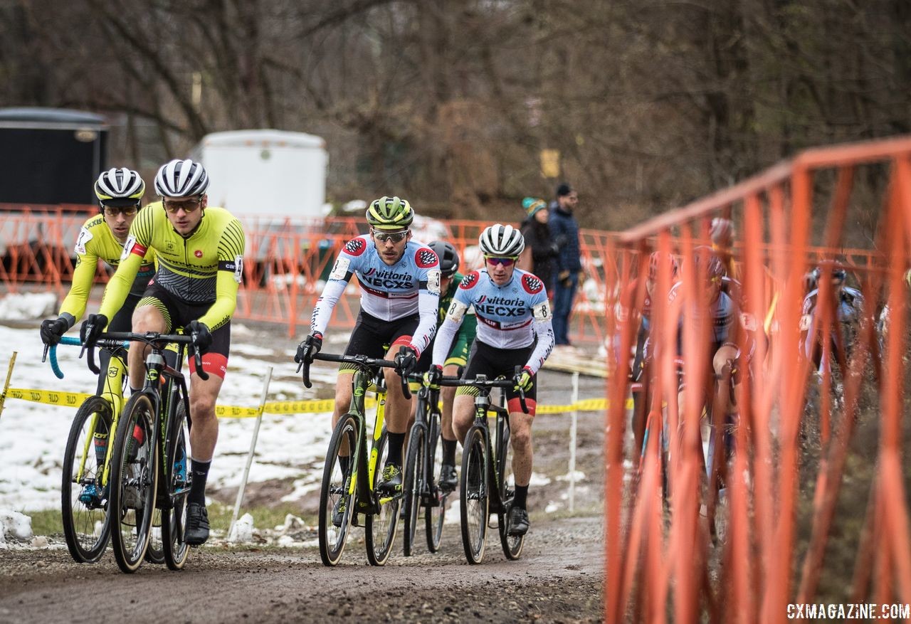
M848 207L863 200L853 197L854 180L867 168L888 171L875 199L876 239L871 249L844 250ZM824 202L824 246L812 247L811 216ZM715 342L718 300L700 247L722 215L742 230L733 250L742 284L724 282L740 305L730 361ZM677 258L679 274L662 261L647 286L652 251ZM849 604L897 605L889 617L911 619L911 468L900 453L908 436L911 138L806 151L623 232L605 257L615 346L605 619L783 622L804 613L799 604L820 603L836 613L841 605L843 617ZM804 308L804 276L817 263L817 305ZM863 294L856 322L838 316L838 267ZM647 302L640 389L630 382L640 372L630 369L630 353ZM625 403L634 389L644 452L629 435Z

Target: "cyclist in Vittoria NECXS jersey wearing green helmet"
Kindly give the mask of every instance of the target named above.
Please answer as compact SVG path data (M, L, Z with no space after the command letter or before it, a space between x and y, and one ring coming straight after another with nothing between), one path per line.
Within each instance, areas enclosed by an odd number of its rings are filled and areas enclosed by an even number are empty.
M298 345L294 361L312 361L320 351L333 307L356 275L361 284L361 312L344 353L375 358L396 353L395 362L399 364L397 369L384 369L389 454L383 479L377 485L394 493L402 489L402 445L411 405L402 394L398 374L415 370L417 359L436 332L440 263L427 245L412 240L409 226L415 212L404 199L376 199L366 217L371 232L349 240L339 252L322 295L313 306L310 335ZM389 345L388 351L385 345ZM400 354L403 346L404 354ZM353 373L350 364L339 367L333 427L351 406ZM343 469L347 469L344 462ZM336 515L338 512L336 509Z

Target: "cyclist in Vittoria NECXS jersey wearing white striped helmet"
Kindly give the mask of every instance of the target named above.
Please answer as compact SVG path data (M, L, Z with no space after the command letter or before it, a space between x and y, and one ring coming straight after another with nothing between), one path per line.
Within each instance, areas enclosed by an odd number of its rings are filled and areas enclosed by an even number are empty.
M434 357L426 384L434 384L443 373L443 363L466 311L475 307L477 334L468 356L464 379L478 373L490 377L514 376L515 387L507 391L510 444L513 450L513 474L516 496L507 521L509 535L528 531L527 494L531 480L531 423L535 416L537 371L554 348L550 305L544 282L533 274L516 268L518 256L525 248L519 230L497 223L481 232L479 238L485 268L468 273L455 292L453 302L440 326L434 344ZM519 405L518 390L525 391L528 414ZM476 388L460 387L455 393L453 429L458 440L464 440L474 421Z

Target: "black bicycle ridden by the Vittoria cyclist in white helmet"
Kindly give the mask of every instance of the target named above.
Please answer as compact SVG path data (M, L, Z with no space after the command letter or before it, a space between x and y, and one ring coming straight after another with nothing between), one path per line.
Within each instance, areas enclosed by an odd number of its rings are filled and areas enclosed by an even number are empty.
M519 373L520 367L516 368ZM462 520L462 547L468 563L481 563L486 547L487 522L490 514L496 514L496 526L500 544L507 559L514 560L522 555L525 536L508 534L507 517L509 506L516 494L515 484L509 483L512 473L512 452L509 445L509 411L502 404L491 405L490 391L493 388L512 388L511 379L488 379L479 374L474 379L447 379L440 385L476 387L480 394L475 397L475 422L468 429L462 445L462 474L459 476L459 507ZM525 393L519 389L522 411L528 413ZM490 437L487 423L488 412L496 416L495 439ZM494 459L492 460L491 457Z

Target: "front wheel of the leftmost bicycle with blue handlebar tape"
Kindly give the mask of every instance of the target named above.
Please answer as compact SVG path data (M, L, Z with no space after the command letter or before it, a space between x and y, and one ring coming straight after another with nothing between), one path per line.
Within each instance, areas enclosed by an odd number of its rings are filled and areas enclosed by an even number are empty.
M102 483L110 429L111 406L100 396L89 396L79 406L69 429L60 502L67 548L77 563L101 558L110 537Z

